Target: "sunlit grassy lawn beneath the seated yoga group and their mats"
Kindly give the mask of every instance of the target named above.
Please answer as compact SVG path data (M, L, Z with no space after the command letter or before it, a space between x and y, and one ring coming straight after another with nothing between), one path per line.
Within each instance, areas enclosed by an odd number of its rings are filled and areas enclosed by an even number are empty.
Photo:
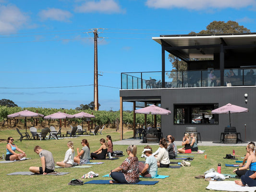
M24 130L21 130L24 132ZM71 186L67 185L72 179L80 179L84 181L89 180L110 180L110 178L102 178L103 175L108 174L111 169L114 169L121 165L122 161L126 156L119 158L118 160L103 161L104 164L92 165L91 168L61 168L55 169L62 172L70 172L63 176L7 176L6 174L16 172L16 171L29 171L30 166L40 166L39 156L34 152L34 146L40 145L43 149L49 150L54 156L54 160L61 161L64 159L65 152L67 148L67 142L72 140L74 142L75 152L76 147L81 149L81 140L87 139L90 144L91 152L98 149L100 146L99 139L106 139L106 135L110 134L113 141L120 140L120 133L115 132L112 129L106 129L103 131L103 135L96 136L86 136L86 137L76 137L76 138L66 138L61 140L48 140L48 141L25 141L20 142L18 139L20 136L16 130L1 130L0 131L0 154L4 152L6 154L6 141L9 136L14 138L14 143L26 152L27 157L32 159L14 162L14 163L2 163L0 164L0 192L11 190L12 192L34 192L34 191L50 191L50 192L77 192L77 191L112 191L112 192L202 192L207 191L206 186L208 181L203 179L195 179L194 176L203 174L209 168L215 168L217 170L218 163L221 163L221 173L233 174L232 167L225 167L225 163L234 164L235 160L224 159L226 154L232 154L232 149L235 150L236 155L244 156L245 150L243 147L233 147L233 146L200 146L199 149L206 150L207 159L204 159L204 155L194 154L194 160L191 162L191 167L185 168L158 168L159 175L169 175L166 179L141 179L141 180L159 180L156 185L95 185L86 184L82 186ZM124 133L124 138L129 138L133 135L131 131ZM141 151L146 145L138 145L138 158L139 160L144 160L141 158ZM114 145L114 150L122 150L125 154L125 149L127 145ZM152 146L155 151L158 146ZM126 154L125 154L126 155ZM242 160L238 157L238 160ZM181 160L171 160L181 162ZM99 162L99 161L93 161ZM81 177L88 173L89 171L94 171L99 174L98 178L93 179L81 179ZM230 179L235 180L235 179Z

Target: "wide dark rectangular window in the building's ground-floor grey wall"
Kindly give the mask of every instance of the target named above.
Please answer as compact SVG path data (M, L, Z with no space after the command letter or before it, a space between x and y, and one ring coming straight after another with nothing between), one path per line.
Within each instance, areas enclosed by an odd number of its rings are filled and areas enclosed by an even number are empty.
M218 124L219 115L211 111L219 108L217 103L174 104L174 124Z

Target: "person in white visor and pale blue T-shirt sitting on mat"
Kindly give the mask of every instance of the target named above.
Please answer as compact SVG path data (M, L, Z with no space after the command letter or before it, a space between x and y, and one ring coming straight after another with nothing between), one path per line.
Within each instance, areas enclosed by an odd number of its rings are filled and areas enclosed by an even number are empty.
M152 148L147 145L144 147L143 153L147 156L145 165L139 162L139 173L143 177L156 177L158 175L158 163L154 156L152 156Z

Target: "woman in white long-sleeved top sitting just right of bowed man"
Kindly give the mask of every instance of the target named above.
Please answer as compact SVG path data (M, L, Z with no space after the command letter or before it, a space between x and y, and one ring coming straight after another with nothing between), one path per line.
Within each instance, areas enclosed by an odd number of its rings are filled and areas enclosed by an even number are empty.
M56 162L56 165L62 167L62 168L70 168L73 167L74 163L74 146L73 141L69 141L68 144L68 150L66 151L65 158L61 162Z

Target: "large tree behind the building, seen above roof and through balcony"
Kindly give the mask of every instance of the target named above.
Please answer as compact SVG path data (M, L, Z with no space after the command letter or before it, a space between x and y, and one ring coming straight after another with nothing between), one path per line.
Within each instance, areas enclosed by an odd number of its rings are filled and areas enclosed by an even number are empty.
M213 21L207 25L206 30L202 30L199 33L195 33L194 31L190 32L188 35L203 35L203 34L241 34L241 33L250 33L251 31L244 27L243 25L239 25L235 21L228 21L225 23L224 21ZM178 58L178 69L176 57L172 54L169 54L169 60L172 65L172 72L167 73L169 78L172 78L173 81L176 81L176 72L178 71L187 71L187 63Z

